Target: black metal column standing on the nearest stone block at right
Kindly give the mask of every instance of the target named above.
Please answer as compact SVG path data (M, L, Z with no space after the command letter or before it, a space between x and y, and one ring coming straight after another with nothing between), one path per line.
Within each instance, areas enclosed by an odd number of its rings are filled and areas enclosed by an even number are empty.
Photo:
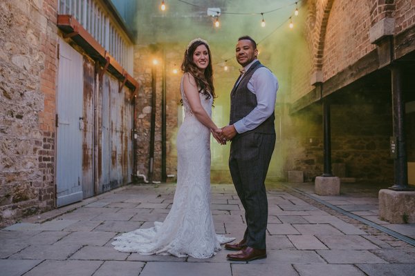
M402 91L402 68L391 66L392 81L392 115L396 155L394 158L395 183L391 190L413 190L408 186L407 152L405 141L405 100Z

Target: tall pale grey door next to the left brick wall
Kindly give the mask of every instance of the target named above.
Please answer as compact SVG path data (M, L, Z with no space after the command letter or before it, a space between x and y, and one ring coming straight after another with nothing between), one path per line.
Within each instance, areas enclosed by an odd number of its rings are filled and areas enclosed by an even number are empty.
M59 39L57 82L57 206L82 200L82 55Z

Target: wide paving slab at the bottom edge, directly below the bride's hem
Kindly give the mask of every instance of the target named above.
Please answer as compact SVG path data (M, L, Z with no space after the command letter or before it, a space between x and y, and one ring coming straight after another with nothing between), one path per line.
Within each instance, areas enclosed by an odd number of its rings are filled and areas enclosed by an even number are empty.
M154 263L146 264L140 276L228 276L230 264Z

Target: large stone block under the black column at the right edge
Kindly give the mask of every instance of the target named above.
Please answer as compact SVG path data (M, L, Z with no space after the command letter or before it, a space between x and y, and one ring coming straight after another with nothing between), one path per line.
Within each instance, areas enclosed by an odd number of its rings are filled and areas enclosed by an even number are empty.
M379 191L379 217L391 224L415 223L415 191Z

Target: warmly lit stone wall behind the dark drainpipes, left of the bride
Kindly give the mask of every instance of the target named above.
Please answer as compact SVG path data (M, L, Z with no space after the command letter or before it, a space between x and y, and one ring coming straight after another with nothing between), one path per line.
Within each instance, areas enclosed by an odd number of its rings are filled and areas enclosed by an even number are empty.
M166 173L176 177L176 133L178 130L178 109L180 103L180 79L181 79L181 48L177 46L165 46L166 57L166 112L167 112L167 139L166 139ZM152 60L156 58L159 63L156 66L156 130L154 143L154 181L161 180L161 101L163 88L163 46L136 46L134 57L134 76L140 83L136 103L136 129L137 150L136 168L140 174L149 177L149 148L151 126L151 68ZM172 70L176 68L177 74ZM172 179L174 179L172 177ZM169 179L167 179L169 180Z

